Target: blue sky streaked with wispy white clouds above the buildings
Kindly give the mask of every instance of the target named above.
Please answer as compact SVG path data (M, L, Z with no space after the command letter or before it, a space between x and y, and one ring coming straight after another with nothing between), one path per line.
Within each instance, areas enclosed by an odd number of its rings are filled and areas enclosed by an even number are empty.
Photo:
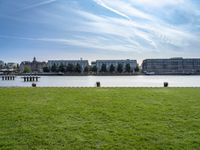
M0 0L0 60L200 57L200 0Z

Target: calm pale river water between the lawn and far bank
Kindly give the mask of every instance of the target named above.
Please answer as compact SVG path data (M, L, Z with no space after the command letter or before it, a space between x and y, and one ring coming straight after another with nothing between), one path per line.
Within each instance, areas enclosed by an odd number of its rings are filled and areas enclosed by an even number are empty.
M200 87L200 76L42 76L39 87L94 87L96 82L103 87L162 87L168 82L170 87ZM30 87L32 82L24 82L18 76L14 81L2 81L0 87Z

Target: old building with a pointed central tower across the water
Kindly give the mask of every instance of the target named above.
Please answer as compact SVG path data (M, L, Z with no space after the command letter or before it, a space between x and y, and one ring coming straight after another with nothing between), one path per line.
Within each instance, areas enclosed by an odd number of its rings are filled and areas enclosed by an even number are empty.
M20 64L20 72L32 72L32 73L41 73L43 68L47 67L46 62L39 62L36 58L33 58L33 61L23 61Z

